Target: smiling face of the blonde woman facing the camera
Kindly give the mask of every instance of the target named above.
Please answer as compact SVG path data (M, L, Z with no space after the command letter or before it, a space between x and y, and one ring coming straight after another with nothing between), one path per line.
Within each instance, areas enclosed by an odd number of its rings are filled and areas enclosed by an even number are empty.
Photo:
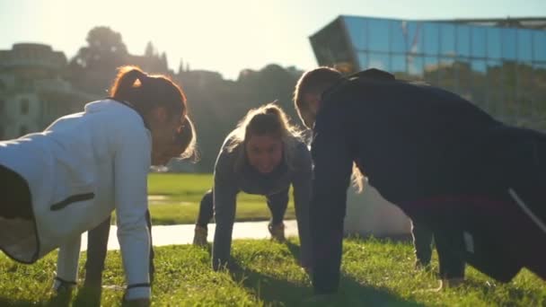
M277 136L251 135L246 142L246 156L254 169L267 174L280 164L283 157L283 142Z

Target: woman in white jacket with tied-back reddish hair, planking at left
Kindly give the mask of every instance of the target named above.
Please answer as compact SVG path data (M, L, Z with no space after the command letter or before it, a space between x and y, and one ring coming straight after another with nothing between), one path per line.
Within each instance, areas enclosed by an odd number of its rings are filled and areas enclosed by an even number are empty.
M124 297L146 304L147 173L189 129L186 98L169 78L133 66L119 69L110 95L41 133L0 142L0 250L30 264L60 247L56 286L75 284L81 233L115 210Z

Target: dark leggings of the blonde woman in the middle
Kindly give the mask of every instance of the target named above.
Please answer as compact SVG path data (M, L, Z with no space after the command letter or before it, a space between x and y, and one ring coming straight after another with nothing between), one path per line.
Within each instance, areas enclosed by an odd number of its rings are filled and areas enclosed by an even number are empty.
M288 189L277 194L266 196L269 211L271 212L271 224L281 224L285 218L286 207L288 206ZM214 215L213 190L209 189L201 199L199 206L197 225L207 227Z

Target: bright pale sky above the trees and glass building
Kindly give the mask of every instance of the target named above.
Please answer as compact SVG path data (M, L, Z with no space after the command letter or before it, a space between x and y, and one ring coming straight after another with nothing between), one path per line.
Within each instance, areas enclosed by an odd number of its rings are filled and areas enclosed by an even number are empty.
M152 41L169 66L217 71L316 66L309 36L339 14L399 19L546 17L546 0L0 0L0 49L40 42L74 57L87 32L118 31L131 54Z

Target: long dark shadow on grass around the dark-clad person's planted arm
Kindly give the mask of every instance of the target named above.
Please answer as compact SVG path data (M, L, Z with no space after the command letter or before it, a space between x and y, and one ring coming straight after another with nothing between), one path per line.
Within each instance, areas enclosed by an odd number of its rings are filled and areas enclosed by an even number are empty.
M300 247L286 241L286 247L295 259L299 259ZM251 293L260 297L266 305L283 306L420 306L414 301L402 299L384 289L362 285L354 278L342 275L338 294L313 296L313 289L268 276L250 268L242 268L231 259L230 274Z

